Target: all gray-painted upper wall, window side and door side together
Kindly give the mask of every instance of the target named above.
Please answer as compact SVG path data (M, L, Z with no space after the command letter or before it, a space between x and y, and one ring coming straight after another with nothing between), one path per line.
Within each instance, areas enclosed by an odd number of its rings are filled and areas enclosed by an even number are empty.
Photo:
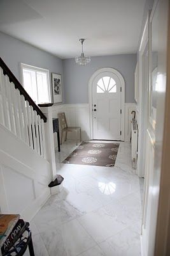
M61 60L48 52L0 32L0 56L19 81L21 81L20 63L62 74L63 103L89 102L88 83L92 74L99 68L113 67L125 79L125 102L134 102L136 54L92 57L87 66L80 67L75 64L74 59Z

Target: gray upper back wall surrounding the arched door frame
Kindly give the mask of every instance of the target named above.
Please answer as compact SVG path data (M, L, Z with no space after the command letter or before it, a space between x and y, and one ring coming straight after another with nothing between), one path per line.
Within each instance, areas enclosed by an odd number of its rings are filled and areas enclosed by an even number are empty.
M125 80L125 102L134 102L134 70L136 54L92 57L87 66L76 65L74 59L63 60L66 103L89 102L89 79L99 68L115 68Z

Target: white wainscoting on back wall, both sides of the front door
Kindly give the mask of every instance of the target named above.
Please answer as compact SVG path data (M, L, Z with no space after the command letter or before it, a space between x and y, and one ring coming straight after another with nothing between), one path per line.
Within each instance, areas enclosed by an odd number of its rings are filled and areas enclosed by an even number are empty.
M131 119L132 111L136 111L135 103L125 103L125 141L131 138ZM65 112L67 124L69 126L80 126L82 140L90 140L90 117L89 104L61 104L53 106L53 117L57 117L58 113ZM74 132L69 132L68 138L76 140ZM54 134L55 148L57 148L57 135Z

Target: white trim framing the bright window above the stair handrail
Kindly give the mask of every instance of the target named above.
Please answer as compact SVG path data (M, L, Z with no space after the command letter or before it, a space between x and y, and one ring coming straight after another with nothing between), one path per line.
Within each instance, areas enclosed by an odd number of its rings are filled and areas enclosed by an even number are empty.
M48 84L49 84L49 87L48 87L48 93L49 93L49 96L50 96L50 102L52 102L52 86L51 86L51 83L50 83L50 73L49 73L49 70L48 69L45 69L45 68L39 68L39 67L35 67L35 66L32 66L32 65L27 65L27 64L24 64L24 63L20 63L20 73L21 73L21 82L22 82L22 86L24 87L24 77L23 77L23 69L29 69L29 70L33 70L33 71L39 71L39 72L46 72L47 73L47 79L48 79Z

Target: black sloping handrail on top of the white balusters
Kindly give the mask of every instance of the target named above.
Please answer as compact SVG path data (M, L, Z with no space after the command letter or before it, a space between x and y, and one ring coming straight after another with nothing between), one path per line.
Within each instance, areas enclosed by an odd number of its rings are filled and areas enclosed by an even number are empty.
M18 89L20 91L20 95L23 95L25 100L29 102L29 105L32 106L34 110L38 113L38 115L41 117L41 119L44 120L46 123L46 116L43 114L41 109L38 108L38 106L35 104L35 102L31 99L29 94L25 91L24 87L20 84L18 79L14 76L14 74L11 72L10 68L4 63L4 61L0 57L0 67L3 68L3 74L4 76L7 75L10 79L10 82L13 82L15 84L15 89Z

